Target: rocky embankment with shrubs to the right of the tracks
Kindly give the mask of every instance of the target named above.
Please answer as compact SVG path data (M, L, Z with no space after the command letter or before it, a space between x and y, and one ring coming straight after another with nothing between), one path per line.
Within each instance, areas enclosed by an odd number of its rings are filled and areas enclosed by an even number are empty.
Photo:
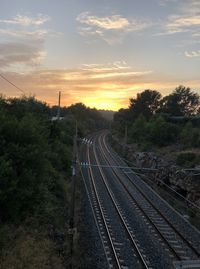
M142 151L136 144L125 144L116 136L110 137L110 143L116 152L139 168L153 168L156 171L146 176L158 186L169 186L185 199L200 207L200 166L192 156L198 156L198 151L181 151L179 147L155 151ZM191 161L184 161L184 156ZM186 158L185 157L185 158ZM180 165L177 165L180 163ZM140 171L142 173L142 170Z

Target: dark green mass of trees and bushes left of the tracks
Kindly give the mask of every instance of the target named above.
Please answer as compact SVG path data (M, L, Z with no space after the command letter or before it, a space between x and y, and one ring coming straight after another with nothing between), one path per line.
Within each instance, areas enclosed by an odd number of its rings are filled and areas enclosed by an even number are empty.
M56 114L34 97L0 97L1 268L66 268L76 122L79 136L107 122L83 104Z

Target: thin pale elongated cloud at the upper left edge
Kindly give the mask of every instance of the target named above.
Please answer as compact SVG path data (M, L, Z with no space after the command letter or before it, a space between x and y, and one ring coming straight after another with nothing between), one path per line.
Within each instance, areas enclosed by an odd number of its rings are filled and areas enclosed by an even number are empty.
M30 25L41 25L49 20L49 16L44 14L38 14L36 18L17 15L13 19L10 20L0 20L0 23L12 24L12 25L22 25L22 26L30 26Z

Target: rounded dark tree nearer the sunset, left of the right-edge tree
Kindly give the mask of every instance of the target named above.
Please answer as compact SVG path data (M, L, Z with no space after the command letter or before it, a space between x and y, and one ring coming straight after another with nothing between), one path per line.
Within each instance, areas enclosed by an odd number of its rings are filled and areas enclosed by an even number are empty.
M130 113L132 118L143 115L149 119L160 107L161 94L155 90L145 90L137 94L137 98L130 99Z

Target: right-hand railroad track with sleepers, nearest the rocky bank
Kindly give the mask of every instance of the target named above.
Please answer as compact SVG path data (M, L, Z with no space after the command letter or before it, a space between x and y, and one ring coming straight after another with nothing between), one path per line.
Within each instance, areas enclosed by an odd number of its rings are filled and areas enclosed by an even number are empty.
M104 158L111 167L113 165L122 165L116 161L116 156L111 153L105 143L105 134L99 136L99 149ZM123 164L124 165L124 164ZM146 219L154 227L155 232L162 239L165 247L169 249L175 260L194 260L200 258L200 251L181 232L164 216L164 214L151 202L144 190L136 184L130 176L130 170L126 174L116 168L111 168L113 174L126 190L129 197L133 200L135 206L138 206ZM133 174L132 174L133 175ZM122 178L128 179L125 181ZM128 184L127 184L128 182ZM131 190L131 191L130 191ZM159 201L158 201L159 202Z

